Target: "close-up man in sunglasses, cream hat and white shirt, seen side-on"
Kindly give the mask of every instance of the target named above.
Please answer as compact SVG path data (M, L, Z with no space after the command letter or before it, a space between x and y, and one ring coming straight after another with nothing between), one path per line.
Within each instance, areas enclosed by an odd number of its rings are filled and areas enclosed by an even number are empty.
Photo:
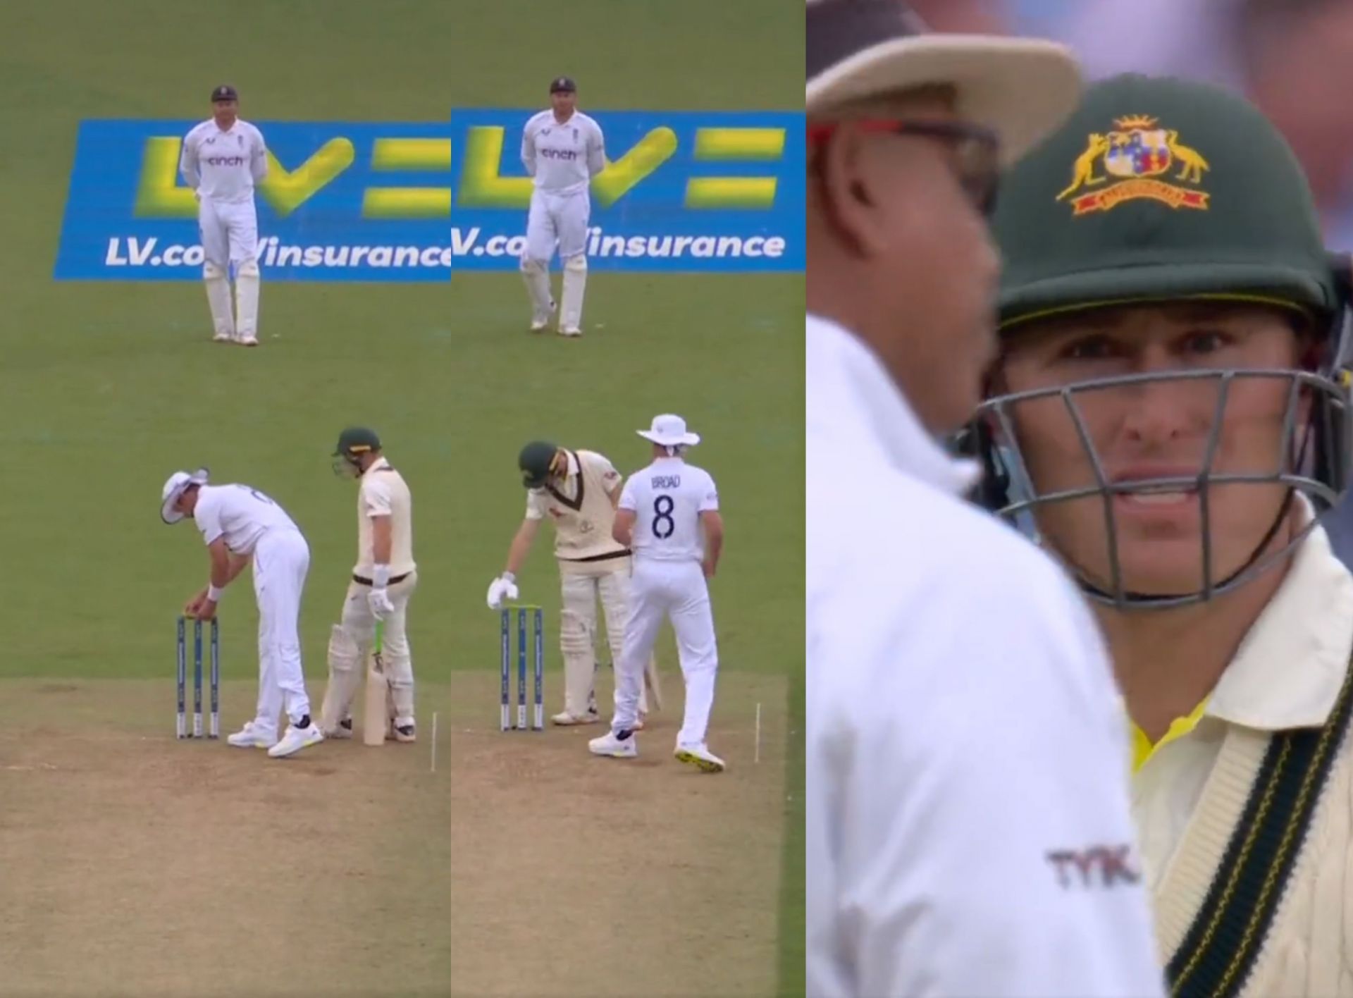
M999 164L1077 66L898 0L806 16L808 994L1160 995L1103 638L935 442L994 356Z

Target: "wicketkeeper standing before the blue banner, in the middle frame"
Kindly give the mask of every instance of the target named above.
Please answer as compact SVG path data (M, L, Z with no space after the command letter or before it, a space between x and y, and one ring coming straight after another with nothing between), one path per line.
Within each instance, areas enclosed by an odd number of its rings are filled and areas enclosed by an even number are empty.
M521 275L530 295L530 329L540 331L555 311L549 261L559 249L564 268L559 334L582 335L583 287L587 284L587 187L606 168L601 126L576 108L578 88L567 76L549 84L549 111L526 122L521 161L532 177L526 218L526 253Z

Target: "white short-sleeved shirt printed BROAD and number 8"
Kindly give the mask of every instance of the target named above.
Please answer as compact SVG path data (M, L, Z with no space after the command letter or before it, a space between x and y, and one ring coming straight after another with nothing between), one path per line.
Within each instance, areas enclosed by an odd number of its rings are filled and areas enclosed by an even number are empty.
M679 457L659 457L629 476L618 508L635 513L629 546L636 559L704 561L700 514L718 508L718 488L704 468Z

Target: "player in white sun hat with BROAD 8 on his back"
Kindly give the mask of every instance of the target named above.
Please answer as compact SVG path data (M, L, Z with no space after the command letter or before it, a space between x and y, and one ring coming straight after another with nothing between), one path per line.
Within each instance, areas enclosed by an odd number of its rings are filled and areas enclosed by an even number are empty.
M651 429L636 433L652 442L653 461L625 481L612 527L616 542L635 550L625 644L616 660L616 715L610 732L587 746L598 756L639 755L635 730L643 663L652 653L663 619L670 618L686 679L686 717L676 734L676 759L702 772L723 772L724 760L705 745L718 671L706 583L714 577L724 548L718 490L709 472L686 464L686 448L700 444L700 435L686 430L685 419L653 417Z

